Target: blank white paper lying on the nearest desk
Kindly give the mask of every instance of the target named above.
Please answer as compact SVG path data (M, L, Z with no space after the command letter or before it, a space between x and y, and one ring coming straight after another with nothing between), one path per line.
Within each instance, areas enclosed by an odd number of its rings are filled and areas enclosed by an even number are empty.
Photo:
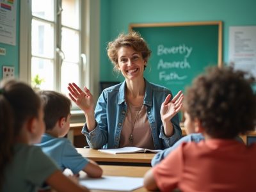
M102 176L101 178L89 178L79 180L79 184L88 189L110 191L133 191L143 186L143 177L117 177Z

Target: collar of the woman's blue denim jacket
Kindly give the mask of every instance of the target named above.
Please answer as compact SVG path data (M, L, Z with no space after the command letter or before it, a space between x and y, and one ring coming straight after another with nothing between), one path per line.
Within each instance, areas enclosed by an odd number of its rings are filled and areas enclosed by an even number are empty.
M150 86L150 83L148 83L148 81L145 78L144 78L144 81L145 81L145 97L143 100L143 104L146 104L147 106L152 107L152 88ZM126 81L124 81L119 88L118 105L125 102L125 85L126 85Z

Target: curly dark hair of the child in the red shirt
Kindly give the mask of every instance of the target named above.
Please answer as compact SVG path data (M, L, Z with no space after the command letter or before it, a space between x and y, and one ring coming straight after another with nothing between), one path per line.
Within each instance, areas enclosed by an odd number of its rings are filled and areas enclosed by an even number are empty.
M212 138L234 138L255 127L252 78L229 67L209 67L193 81L184 99L192 120L200 120Z

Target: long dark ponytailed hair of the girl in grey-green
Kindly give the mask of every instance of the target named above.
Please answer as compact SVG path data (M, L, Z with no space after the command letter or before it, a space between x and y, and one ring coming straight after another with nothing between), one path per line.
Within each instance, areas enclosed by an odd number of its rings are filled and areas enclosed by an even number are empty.
M38 117L40 99L25 83L9 79L0 85L0 188L3 185L4 168L12 161L15 137L30 118Z

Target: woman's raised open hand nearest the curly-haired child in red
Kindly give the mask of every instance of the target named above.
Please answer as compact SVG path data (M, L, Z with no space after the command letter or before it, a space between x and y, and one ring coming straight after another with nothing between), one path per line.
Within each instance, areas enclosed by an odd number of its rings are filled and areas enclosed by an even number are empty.
M163 122L170 121L182 107L182 100L184 99L184 95L181 91L179 91L172 100L170 100L171 97L172 95L167 95L161 106L160 114Z

